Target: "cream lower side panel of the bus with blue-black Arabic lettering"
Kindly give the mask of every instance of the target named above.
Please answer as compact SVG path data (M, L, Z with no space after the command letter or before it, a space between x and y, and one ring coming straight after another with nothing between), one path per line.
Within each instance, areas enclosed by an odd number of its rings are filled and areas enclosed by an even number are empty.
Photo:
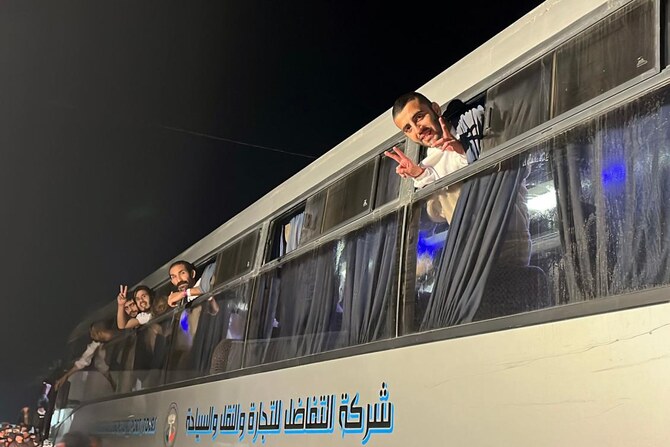
M666 445L668 377L661 304L101 402L71 429L105 447Z

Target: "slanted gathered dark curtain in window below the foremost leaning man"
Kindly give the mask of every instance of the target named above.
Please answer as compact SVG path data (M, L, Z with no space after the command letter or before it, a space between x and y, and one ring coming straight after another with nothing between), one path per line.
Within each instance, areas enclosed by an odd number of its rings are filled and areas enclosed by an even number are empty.
M517 159L506 164L463 183L421 330L467 323L477 312L526 176Z

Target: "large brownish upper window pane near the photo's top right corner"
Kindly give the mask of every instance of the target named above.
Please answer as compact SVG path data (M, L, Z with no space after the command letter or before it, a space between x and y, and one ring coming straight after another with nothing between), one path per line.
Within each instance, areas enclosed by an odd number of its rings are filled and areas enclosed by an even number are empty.
M556 50L553 116L656 64L654 2L634 2Z

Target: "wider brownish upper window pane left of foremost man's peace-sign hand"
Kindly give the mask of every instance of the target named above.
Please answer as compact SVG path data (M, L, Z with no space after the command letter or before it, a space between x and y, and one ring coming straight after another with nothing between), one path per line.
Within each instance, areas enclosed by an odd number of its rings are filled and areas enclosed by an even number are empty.
M328 188L323 232L370 210L375 166L371 160Z

